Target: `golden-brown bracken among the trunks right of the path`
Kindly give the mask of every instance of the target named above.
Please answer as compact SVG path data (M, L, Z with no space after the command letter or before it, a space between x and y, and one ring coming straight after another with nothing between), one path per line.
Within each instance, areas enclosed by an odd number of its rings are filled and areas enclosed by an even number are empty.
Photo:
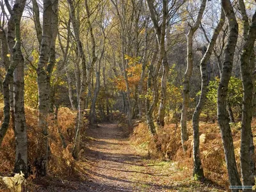
M232 124L232 135L237 161L237 170L241 175L240 168L240 125ZM256 120L252 122L253 132L256 131ZM148 126L145 122L134 127L131 135L131 141L134 145L143 150L147 150L148 155L162 160L172 160L177 163L177 168L182 171L182 175L177 174L177 180L192 177L193 173L193 127L188 122L189 140L184 143L188 150L184 153L180 141L180 127L175 130L175 124L167 124L163 128L157 129L157 143L154 142ZM157 150L157 146L161 150ZM200 157L204 168L205 177L212 182L223 186L228 190L228 174L225 164L225 155L221 141L221 133L218 124L202 123L200 124ZM255 159L256 160L256 159ZM174 175L175 176L175 175ZM175 177L173 177L175 179Z

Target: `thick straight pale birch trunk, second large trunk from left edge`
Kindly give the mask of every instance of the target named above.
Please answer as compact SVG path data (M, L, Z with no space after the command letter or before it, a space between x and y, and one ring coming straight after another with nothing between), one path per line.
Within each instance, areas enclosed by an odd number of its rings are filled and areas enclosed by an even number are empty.
M36 22L36 20L35 20ZM38 127L42 130L43 147L40 155L40 168L38 175L47 174L47 159L49 156L47 116L51 106L50 89L51 74L55 64L55 42L58 27L58 0L44 0L42 40L40 44L40 56L38 61ZM38 38L39 39L39 38Z

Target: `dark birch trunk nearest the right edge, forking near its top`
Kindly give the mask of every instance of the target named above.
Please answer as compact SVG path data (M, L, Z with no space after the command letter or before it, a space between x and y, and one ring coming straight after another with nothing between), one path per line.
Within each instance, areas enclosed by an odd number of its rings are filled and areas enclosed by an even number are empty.
M255 167L253 162L254 145L252 136L252 107L253 107L253 72L250 66L250 58L254 51L256 39L256 12L252 18L252 24L249 26L248 17L244 8L244 2L239 1L240 10L243 16L244 24L244 45L241 55L241 76L243 81L243 111L242 111L242 131L241 131L241 172L244 186L254 186ZM253 65L255 65L253 63ZM255 66L253 66L254 68ZM244 191L252 191L244 189Z

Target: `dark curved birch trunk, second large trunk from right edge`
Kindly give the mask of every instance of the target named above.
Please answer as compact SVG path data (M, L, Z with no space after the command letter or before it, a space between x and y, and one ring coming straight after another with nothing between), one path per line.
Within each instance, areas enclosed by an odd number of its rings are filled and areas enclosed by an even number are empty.
M234 52L236 49L236 42L238 36L238 24L236 22L236 15L229 0L221 0L221 5L228 19L228 42L225 47L224 61L222 65L222 73L220 84L218 87L218 122L221 129L221 138L224 146L225 160L228 169L228 179L230 185L241 186L239 174L237 172L236 159L234 153L234 144L232 132L230 130L228 113L227 113L227 92L228 82L230 80L232 65L234 60ZM239 191L232 189L232 191Z

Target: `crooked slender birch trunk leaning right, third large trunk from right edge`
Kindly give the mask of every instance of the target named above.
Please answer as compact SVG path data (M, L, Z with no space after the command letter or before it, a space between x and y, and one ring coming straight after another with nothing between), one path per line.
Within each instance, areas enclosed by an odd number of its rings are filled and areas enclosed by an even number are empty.
M209 45L207 47L207 51L204 52L204 57L200 61L200 71L201 71L201 93L200 93L200 99L196 106L195 112L193 114L193 162L194 162L194 168L193 168L193 177L195 179L204 179L204 170L202 167L201 159L200 159L200 140L199 140L199 117L202 112L202 108L205 104L206 94L207 94L207 85L209 83L208 81L208 74L207 74L207 61L209 61L212 51L214 49L214 45L216 43L216 39L223 27L223 24L225 22L225 13L221 9L221 16L220 21L218 23L218 26L214 30L214 33L211 38L211 42L209 42Z

